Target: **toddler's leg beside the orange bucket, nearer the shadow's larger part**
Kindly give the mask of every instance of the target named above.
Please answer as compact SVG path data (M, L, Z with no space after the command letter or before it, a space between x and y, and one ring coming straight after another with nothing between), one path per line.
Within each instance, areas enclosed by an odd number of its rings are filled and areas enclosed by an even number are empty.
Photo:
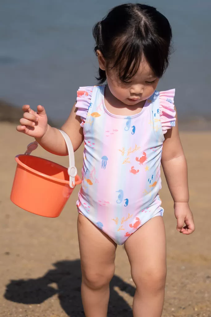
M86 317L106 317L109 283L115 271L116 244L86 217L78 215L81 297Z

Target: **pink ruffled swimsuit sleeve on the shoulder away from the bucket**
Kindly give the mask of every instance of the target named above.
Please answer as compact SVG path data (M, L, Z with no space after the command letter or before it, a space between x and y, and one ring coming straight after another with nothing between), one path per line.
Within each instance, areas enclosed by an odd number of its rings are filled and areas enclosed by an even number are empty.
M172 126L175 126L176 111L174 110L174 96L175 89L159 92L160 123L163 134L168 129L171 129Z

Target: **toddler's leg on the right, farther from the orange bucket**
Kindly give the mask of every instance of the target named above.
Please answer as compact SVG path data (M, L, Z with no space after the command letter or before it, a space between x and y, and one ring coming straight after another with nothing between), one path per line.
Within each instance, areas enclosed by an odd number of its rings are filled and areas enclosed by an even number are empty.
M162 217L153 217L125 242L136 285L134 317L161 317L166 279L166 238Z

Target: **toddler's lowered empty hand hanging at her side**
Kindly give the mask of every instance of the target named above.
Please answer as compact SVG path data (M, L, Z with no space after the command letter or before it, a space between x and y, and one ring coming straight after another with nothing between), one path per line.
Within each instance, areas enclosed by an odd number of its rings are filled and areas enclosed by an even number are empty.
M177 231L189 235L195 230L193 214L188 203L174 203L174 214L177 218Z

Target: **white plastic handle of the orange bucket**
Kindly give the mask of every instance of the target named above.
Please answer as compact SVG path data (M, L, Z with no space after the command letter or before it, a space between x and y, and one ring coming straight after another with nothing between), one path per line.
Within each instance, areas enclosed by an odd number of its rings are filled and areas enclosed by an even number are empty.
M69 136L62 130L59 130L59 132L62 134L63 138L65 139L65 143L67 146L67 150L68 150L68 155L69 155L69 167L68 167L68 175L70 177L70 188L74 188L75 187L75 177L77 175L77 168L75 167L75 157L74 157L74 150L73 150L73 146L71 143L71 140L69 138ZM34 141L32 143L29 143L27 146L27 150L24 153L25 155L30 155L32 151L36 150L36 148L38 147L38 142Z

